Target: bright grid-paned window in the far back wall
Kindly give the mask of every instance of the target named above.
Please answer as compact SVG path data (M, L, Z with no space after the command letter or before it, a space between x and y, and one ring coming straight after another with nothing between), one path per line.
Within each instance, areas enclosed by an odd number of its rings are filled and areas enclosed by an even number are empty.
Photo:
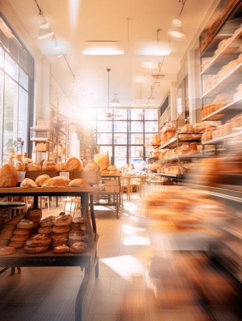
M153 134L158 132L156 109L96 110L96 137L100 152L109 152L112 164L146 159ZM121 165L120 165L121 166Z

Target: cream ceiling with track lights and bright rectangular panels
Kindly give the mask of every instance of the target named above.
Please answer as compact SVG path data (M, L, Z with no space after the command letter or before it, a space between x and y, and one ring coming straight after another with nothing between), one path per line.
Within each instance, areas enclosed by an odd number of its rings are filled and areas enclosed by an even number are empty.
M214 3L211 0L3 1L9 3L16 19L26 28L26 34L50 61L53 77L66 96L79 107L88 108L107 108L115 94L120 107L159 107L171 84L176 83L180 61L194 36L201 31L200 25L204 24ZM43 22L38 7L54 38L38 39L39 25ZM166 35L172 19L178 16L186 34L184 41L174 41ZM55 40L59 45L57 50ZM107 46L123 49L124 55L82 53L83 49ZM151 47L169 49L171 54L137 54L138 50ZM146 62L155 63L155 68L144 67ZM111 69L109 102L107 68ZM160 79L152 76L157 74L164 76ZM78 88L74 88L73 78Z

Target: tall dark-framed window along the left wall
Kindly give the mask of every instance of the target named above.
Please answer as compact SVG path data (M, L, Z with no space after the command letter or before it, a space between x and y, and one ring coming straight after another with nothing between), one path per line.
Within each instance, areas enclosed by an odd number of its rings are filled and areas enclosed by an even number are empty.
M3 24L5 22L0 17ZM7 26L7 25L6 25ZM9 30L5 32L4 30ZM14 33L0 29L0 164L17 153L29 154L33 124L34 61Z

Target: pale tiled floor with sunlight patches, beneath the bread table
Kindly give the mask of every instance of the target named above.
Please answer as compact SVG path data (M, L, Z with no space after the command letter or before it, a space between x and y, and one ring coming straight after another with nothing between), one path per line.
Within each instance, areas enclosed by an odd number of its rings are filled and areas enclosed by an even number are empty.
M96 207L99 240L99 276L90 279L83 302L84 321L117 321L127 286L136 276L143 279L144 261L149 253L148 232L137 220L144 199L124 199L119 219L115 211ZM43 217L63 211L62 198ZM75 215L80 215L77 212ZM78 267L22 268L11 275L0 274L0 319L9 321L72 321L75 298L84 275Z

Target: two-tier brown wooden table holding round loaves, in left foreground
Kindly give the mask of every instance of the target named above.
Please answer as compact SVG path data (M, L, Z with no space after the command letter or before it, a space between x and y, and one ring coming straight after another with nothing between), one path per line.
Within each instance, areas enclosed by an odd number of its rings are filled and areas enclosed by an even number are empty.
M38 254L26 254L24 249L17 249L16 253L0 257L1 267L53 267L53 266L79 266L84 269L84 279L80 285L75 304L75 320L82 320L82 302L89 282L90 274L95 268L98 276L98 256L96 246L98 234L93 210L93 193L102 189L95 187L58 187L58 188L0 188L0 197L6 196L33 196L34 207L37 207L38 196L79 196L82 204L82 215L87 228L89 249L82 254L54 254L52 250ZM90 206L90 207L89 207Z

